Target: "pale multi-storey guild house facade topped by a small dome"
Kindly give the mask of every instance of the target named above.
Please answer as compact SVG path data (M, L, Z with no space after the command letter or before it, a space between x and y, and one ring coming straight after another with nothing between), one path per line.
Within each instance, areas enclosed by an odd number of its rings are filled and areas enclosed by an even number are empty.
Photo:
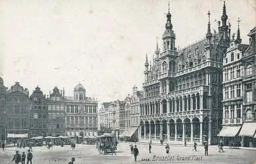
M98 102L86 97L82 84L74 88L74 97L65 97L67 136L97 136Z

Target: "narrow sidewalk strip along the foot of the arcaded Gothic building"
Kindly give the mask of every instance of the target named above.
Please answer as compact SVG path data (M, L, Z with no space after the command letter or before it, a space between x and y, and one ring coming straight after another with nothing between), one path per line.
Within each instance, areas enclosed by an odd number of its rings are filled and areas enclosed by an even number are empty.
M124 143L125 142L120 142L120 143ZM148 145L148 143L132 143L132 142L126 142L126 144L133 144L133 145ZM155 145L155 146L166 146L166 144L164 143L163 145L161 144L151 144L151 145ZM179 144L169 144L170 146L177 146L177 147L191 147L193 148L194 146L193 145L187 145L187 146L184 146L184 145L179 145ZM198 145L197 147L200 147L200 146L203 146L203 145ZM209 147L212 147L212 148L218 148L218 145L209 145ZM224 146L223 147L224 149L229 149L228 146ZM239 147L239 149L242 149L242 150L256 150L256 148L248 148L248 147Z

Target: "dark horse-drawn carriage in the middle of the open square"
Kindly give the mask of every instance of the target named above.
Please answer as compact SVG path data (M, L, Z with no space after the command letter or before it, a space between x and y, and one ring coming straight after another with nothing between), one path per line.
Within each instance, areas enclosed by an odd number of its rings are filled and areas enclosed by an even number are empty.
M111 133L104 133L98 136L100 142L101 153L108 154L112 153L112 149L117 149L116 136Z

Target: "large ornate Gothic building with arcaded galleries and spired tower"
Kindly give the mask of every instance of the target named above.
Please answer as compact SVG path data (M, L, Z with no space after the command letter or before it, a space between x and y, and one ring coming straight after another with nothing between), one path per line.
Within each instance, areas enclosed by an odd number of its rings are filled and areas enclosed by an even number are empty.
M168 11L162 52L157 43L153 64L147 56L144 64L140 142L216 144L222 124L222 58L230 41L226 6L218 32L211 33L208 20L206 37L179 51L171 16Z

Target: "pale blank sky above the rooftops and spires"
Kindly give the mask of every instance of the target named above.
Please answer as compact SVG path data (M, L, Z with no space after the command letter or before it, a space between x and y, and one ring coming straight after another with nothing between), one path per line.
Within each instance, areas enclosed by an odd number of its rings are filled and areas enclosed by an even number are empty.
M88 97L123 100L132 87L142 90L145 55L152 59L156 37L165 30L168 0L78 1L0 0L0 76L8 88L16 81L30 94L55 86L73 96L80 82ZM176 47L205 37L210 11L217 30L223 1L172 0ZM226 0L231 32L238 17L243 43L255 27L255 0ZM215 21L217 20L217 21Z

